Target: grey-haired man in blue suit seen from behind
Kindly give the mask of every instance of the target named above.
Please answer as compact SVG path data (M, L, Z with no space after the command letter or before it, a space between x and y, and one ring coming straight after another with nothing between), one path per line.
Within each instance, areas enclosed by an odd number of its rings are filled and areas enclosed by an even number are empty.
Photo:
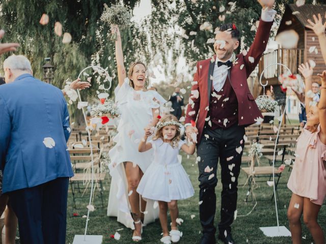
M21 243L65 243L69 177L67 103L60 89L32 74L29 60L4 61L0 86L3 193L18 218Z

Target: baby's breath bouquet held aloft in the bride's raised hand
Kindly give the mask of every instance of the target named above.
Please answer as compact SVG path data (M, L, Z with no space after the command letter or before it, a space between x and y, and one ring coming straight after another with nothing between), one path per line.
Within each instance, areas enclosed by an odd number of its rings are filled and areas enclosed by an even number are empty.
M110 8L104 4L104 11L100 20L111 26L118 25L119 28L125 28L130 25L131 21L130 9L126 6L116 4ZM111 36L111 40L117 40L116 34Z

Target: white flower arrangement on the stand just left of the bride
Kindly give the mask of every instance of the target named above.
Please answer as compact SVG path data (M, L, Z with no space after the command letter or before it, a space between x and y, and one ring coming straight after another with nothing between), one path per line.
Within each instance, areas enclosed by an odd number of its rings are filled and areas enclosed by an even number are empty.
M101 99L101 102L97 105L93 105L91 108L92 117L118 117L120 115L119 108L112 99Z

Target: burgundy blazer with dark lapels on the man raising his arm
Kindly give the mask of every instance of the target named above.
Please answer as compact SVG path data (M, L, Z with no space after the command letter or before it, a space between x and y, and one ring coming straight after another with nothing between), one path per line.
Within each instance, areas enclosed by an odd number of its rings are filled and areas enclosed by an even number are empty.
M266 49L271 25L273 25L273 21L259 21L255 40L250 46L247 55L244 56L242 53L236 55L236 64L234 63L228 72L226 82L231 82L232 88L238 100L239 126L250 126L256 123L255 119L257 120L257 117L262 117L255 99L250 93L247 78L259 63L259 59ZM254 58L253 63L249 61L249 57ZM196 123L196 127L198 129L198 143L202 137L205 118L207 117L208 113L207 108L209 106L212 89L212 80L210 77L213 75L215 58L216 55L214 55L214 58L201 60L197 63L197 72L194 75L194 81L197 82L196 84L193 84L192 90L198 90L199 97L195 98L194 96L191 96L189 100L193 100L194 104L193 106L188 104L187 107L185 123L191 123L191 120L196 121L198 116ZM242 69L240 69L241 66ZM195 113L193 111L195 111ZM192 112L192 115L189 115L189 112Z

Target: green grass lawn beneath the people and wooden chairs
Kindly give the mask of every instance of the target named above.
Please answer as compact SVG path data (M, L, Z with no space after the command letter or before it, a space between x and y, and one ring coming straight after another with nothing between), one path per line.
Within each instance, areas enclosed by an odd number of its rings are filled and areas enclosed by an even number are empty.
M266 162L264 163L266 164ZM179 229L183 232L183 236L179 241L180 244L184 243L198 243L201 237L201 226L199 222L199 210L198 210L198 168L195 164L195 156L187 159L183 155L183 166L187 173L190 175L195 188L195 195L192 198L179 201L179 218L183 219L183 224ZM246 167L246 165L243 165ZM218 177L220 172L218 172ZM288 168L282 173L280 184L279 184L279 195L280 195L280 204L279 207L279 221L280 225L284 225L288 228L288 221L286 217L286 210L291 196L291 192L286 188L286 182L289 177ZM219 177L220 178L220 177ZM244 182L246 182L246 175L241 172L239 176L239 186L238 186L238 202L237 202L237 213L239 215L245 215L249 212L253 206L252 202L244 202L246 198L246 193L248 191L248 186L242 187ZM247 217L237 217L232 225L232 234L237 243L291 243L290 237L265 237L259 227L264 226L276 226L276 212L274 201L270 201L270 198L273 194L273 188L270 188L266 184L267 178L258 178L257 180L263 180L258 182L259 188L256 189L255 195L258 200L258 204L251 215ZM91 212L89 228L87 234L94 235L103 235L103 243L132 243L131 236L132 231L127 229L122 224L116 221L116 218L109 218L106 216L106 205L108 199L108 191L110 188L110 176L106 178L104 190L104 208L101 207L101 202L99 198L99 193L96 192L97 196L94 200L94 205L96 210ZM220 214L219 209L221 206L221 182L219 181L218 186L216 187L217 195L217 213L215 216L215 224L219 222ZM86 205L88 205L89 191L83 198L77 199L77 212L79 217L71 217L72 215L72 195L69 193L68 199L68 216L67 216L67 243L72 243L73 237L75 234L84 234L86 219L82 218L83 215L87 214ZM79 197L81 194L78 194ZM191 215L195 215L194 219L191 219ZM323 227L324 232L326 232L326 206L323 205L319 212L319 224ZM121 239L119 241L110 238L111 234L114 234L117 229L121 229L119 233L121 234ZM141 243L160 243L160 225L157 220L155 223L149 224L144 228L143 240ZM218 233L216 233L217 235ZM312 243L312 237L309 233L309 230L306 226L303 225L303 236L306 239L303 239L303 243ZM222 243L222 242L217 242Z

